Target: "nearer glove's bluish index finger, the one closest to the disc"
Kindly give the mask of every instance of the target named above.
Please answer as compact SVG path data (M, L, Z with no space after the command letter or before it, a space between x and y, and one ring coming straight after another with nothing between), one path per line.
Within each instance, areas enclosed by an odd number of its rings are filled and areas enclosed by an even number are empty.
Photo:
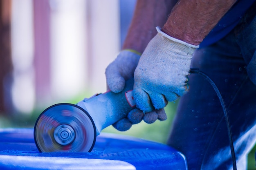
M137 108L142 110L144 113L151 112L153 109L153 105L151 104L148 93L143 91L141 88L136 88L134 85L133 88L133 97L135 98L135 103Z

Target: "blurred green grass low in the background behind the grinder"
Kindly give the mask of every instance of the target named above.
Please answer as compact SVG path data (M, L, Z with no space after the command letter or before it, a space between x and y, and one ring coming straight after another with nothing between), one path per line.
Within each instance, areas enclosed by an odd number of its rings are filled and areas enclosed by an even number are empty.
M91 95L90 95L91 96ZM83 99L83 97L78 97L79 99ZM80 101L78 98L71 99L70 101L65 101L67 103L73 103ZM102 130L102 132L110 132L121 135L129 135L132 137L137 137L140 139L146 139L150 141L156 141L162 144L166 144L169 136L169 132L171 130L171 124L173 118L175 117L176 109L178 102L169 102L165 108L167 120L165 121L155 121L153 124L146 124L144 121L141 123L133 125L130 130L125 132L120 132L109 126ZM47 106L48 107L48 106ZM45 107L45 108L47 108ZM45 109L36 108L33 113L30 115L15 115L14 117L3 117L0 116L0 128L34 128L34 124L36 119L40 115L40 113ZM248 167L247 170L256 170L255 166L255 154L256 146L252 149L252 151L248 155Z

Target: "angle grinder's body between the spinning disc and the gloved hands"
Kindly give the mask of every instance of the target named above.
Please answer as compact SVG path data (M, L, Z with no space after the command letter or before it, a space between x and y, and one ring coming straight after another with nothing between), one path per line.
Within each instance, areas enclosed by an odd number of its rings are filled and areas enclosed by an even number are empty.
M120 93L107 91L77 104L84 108L92 117L97 135L99 135L102 129L126 117L130 110L135 108L132 87L133 81L128 80L124 90Z

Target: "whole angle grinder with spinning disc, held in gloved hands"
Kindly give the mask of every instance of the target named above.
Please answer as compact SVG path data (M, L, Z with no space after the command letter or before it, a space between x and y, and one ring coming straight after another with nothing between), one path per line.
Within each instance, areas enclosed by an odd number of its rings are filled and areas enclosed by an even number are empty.
M36 120L34 139L40 152L90 152L103 128L123 119L135 108L133 79L123 91L96 94L77 104L60 103Z

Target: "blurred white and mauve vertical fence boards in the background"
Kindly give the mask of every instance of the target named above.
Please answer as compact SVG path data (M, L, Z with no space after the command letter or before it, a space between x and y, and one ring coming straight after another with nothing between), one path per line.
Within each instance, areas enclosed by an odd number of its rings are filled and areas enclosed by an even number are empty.
M13 104L21 113L106 91L135 0L13 0ZM86 96L90 97L90 96Z

